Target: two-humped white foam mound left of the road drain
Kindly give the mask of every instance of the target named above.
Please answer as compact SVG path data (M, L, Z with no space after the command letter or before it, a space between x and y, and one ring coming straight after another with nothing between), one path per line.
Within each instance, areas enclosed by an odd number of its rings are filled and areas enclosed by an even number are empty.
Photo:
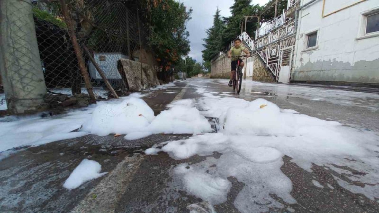
M196 135L212 131L208 120L188 100L174 102L169 107L155 117L144 100L127 97L121 103L98 106L81 131L99 136L126 134L127 140L158 133Z

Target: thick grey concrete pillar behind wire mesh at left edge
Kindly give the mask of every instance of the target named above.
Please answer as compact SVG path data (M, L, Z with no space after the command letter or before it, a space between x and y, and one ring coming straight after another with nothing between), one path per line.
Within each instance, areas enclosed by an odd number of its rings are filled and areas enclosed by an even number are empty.
M46 93L31 0L0 0L0 73L10 113L44 110Z

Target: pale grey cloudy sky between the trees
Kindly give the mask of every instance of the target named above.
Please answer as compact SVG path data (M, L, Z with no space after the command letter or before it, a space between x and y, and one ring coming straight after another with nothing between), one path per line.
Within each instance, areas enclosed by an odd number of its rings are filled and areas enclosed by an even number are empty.
M189 41L191 41L191 52L189 56L202 61L201 51L203 47L203 38L206 37L205 29L212 27L213 15L216 13L217 6L221 10L221 16L230 16L230 7L234 0L177 0L183 2L188 8L193 9L192 19L187 23L189 31ZM253 4L265 5L269 0L252 0ZM238 36L238 35L236 35Z

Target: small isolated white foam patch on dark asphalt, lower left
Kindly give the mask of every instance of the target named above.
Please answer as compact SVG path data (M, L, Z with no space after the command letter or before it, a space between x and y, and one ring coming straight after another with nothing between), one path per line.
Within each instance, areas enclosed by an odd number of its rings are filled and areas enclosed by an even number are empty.
M64 182L63 187L69 190L78 188L81 184L97 179L108 172L100 173L101 165L93 160L84 159L80 164L72 171L70 176Z

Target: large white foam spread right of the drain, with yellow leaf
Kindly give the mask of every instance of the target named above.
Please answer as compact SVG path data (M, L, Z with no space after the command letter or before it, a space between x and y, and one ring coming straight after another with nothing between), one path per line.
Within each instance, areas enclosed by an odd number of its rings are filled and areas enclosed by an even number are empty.
M330 168L332 164L338 164L367 172L369 174L359 178L355 175L347 177L351 181L373 184L365 188L336 180L354 193L362 193L370 199L379 198L376 185L379 178L379 159L376 157L379 151L378 133L360 131L294 110L280 109L264 99L248 102L215 96L207 93L206 88L196 89L206 97L192 102L185 100L183 104L195 105L207 117L217 117L220 122L219 133L169 141L166 145L161 144L161 150L178 160L194 155L209 156L214 152L222 155L219 159L207 157L200 163L180 164L174 168L174 179L181 182L183 190L188 193L213 205L222 203L229 191L224 181L229 182L228 177L235 177L245 184L234 202L241 212L284 208L270 194L276 194L290 204L296 202L290 194L292 183L280 170L282 157L287 155L309 172L312 172L312 164ZM186 166L190 166L190 169ZM338 171L340 174L344 172L345 169ZM221 187L213 185L216 177L222 180ZM189 179L196 179L197 184L192 184ZM207 190L202 191L199 186Z

